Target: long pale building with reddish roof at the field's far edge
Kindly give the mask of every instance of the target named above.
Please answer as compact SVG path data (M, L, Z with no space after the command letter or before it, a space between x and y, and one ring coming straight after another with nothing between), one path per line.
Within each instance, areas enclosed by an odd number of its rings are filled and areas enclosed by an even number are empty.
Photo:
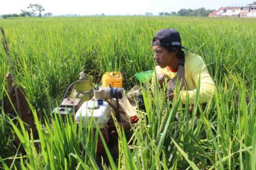
M210 17L250 17L256 18L256 5L240 7L220 7L209 14Z

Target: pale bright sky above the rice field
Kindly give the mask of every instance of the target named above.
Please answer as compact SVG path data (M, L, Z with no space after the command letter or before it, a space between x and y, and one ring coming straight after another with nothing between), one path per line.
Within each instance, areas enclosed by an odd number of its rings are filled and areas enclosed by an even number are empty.
M21 13L27 10L29 4L41 4L53 16L64 14L78 15L144 15L151 12L179 11L181 8L218 9L221 6L242 6L255 0L2 0L0 2L0 15Z

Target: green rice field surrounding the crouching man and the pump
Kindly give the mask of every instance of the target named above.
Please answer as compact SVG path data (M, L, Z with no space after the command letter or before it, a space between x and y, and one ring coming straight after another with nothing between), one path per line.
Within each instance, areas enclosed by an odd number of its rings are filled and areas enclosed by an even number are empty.
M0 26L38 130L33 137L19 118L2 112L0 169L256 169L255 18L9 18ZM112 71L122 72L126 91L139 84L134 74L154 69L151 40L162 28L178 30L183 46L203 57L218 93L204 109L196 100L190 115L178 96L170 104L163 90L146 89L138 123L129 132L117 125L117 154L106 144L99 157L100 131L50 113L82 71L95 85ZM3 98L10 65L2 46L0 61ZM22 146L14 145L14 136Z

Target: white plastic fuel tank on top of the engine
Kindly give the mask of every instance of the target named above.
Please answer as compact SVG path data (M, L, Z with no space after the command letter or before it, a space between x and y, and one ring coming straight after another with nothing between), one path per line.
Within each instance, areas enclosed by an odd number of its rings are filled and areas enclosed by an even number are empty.
M75 113L75 121L80 123L81 119L82 124L85 125L85 123L92 121L91 118L93 117L100 128L105 128L110 119L110 111L110 104L107 101L103 101L102 105L98 105L97 101L85 101ZM95 127L94 122L92 125Z

